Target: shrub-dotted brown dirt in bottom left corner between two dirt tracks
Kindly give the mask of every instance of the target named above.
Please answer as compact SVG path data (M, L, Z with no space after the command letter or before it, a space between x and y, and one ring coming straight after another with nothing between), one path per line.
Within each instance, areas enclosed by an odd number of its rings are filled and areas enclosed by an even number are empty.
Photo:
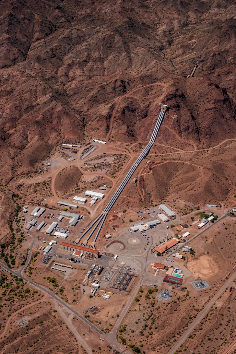
M27 324L18 326L19 321ZM66 340L65 340L66 338ZM0 340L2 354L8 353L73 353L77 354L78 342L65 325L50 301L31 306L11 322L9 331Z

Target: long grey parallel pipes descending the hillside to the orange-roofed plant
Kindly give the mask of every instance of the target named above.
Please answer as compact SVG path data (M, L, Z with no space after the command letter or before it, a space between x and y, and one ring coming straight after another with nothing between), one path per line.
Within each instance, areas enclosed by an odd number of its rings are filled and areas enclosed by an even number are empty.
M83 245L87 245L88 240L90 239L90 237L92 236L92 234L95 232L95 230L98 228L98 231L96 233L96 236L94 238L94 242L96 242L98 235L103 227L103 224L105 222L105 219L108 215L108 213L110 212L111 208L114 206L116 200L119 198L120 194L122 193L123 189L126 187L126 184L129 182L129 180L131 179L133 173L136 171L137 167L139 166L140 162L142 162L142 160L148 155L152 145L155 143L157 134L160 130L162 121L164 119L165 113L166 113L166 109L167 106L165 104L161 105L161 110L160 110L160 114L159 117L157 119L154 131L151 135L150 141L149 143L146 145L146 147L143 149L143 151L141 152L141 154L139 155L138 159L133 163L131 169L128 171L127 175L125 176L125 178L123 179L122 183L120 184L120 186L117 188L116 192L114 193L114 195L111 197L110 201L108 202L107 206L105 207L105 209L102 211L102 213L95 219L95 221L87 228L87 230L82 233L82 235L80 236L79 240L81 240L86 233L92 229L92 231L90 232L90 234L88 235L86 241L83 242Z

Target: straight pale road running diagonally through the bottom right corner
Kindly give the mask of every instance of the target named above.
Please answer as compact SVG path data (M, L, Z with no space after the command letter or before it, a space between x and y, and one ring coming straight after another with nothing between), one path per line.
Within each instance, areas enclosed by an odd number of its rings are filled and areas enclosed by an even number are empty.
M190 333L194 330L194 328L199 324L200 321L202 321L203 317L206 316L206 314L209 312L213 304L217 301L220 295L223 294L225 291L226 287L229 287L231 282L234 280L236 276L236 271L232 273L229 277L228 280L226 280L223 285L220 287L220 289L217 291L217 293L213 296L211 301L207 303L207 305L204 307L204 309L201 311L200 314L197 315L195 320L192 322L192 324L188 327L188 329L184 332L184 334L175 342L174 346L169 350L168 354L173 354L176 352L176 350L181 346L181 344L184 343L184 341L188 338Z

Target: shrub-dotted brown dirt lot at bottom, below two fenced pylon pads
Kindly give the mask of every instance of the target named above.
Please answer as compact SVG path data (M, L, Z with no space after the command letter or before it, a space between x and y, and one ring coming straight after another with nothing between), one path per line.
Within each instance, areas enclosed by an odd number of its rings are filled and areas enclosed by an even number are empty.
M169 288L167 284L165 287ZM121 342L125 340L127 344L137 345L146 353L167 353L175 339L196 317L199 299L191 296L191 289L190 292L171 289L173 296L163 302L156 298L160 289L151 294L147 292L148 286L142 286L142 289L143 292L136 295L139 301L133 301L123 319L118 337ZM146 295L149 298L145 298Z

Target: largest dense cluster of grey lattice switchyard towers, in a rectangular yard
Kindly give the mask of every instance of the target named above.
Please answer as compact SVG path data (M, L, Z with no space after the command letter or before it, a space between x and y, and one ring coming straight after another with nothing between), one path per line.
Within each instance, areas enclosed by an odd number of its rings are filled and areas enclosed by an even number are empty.
M129 283L134 276L134 272L129 265L127 267L122 265L121 267L118 267L115 276L109 283L109 287L120 291L127 291Z

